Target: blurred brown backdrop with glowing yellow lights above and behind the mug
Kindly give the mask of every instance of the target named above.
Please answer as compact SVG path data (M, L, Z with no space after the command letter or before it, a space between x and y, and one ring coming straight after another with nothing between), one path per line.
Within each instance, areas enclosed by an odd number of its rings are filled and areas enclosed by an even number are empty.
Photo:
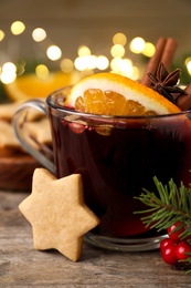
M1 0L0 19L1 100L43 96L39 80L54 82L44 94L102 71L139 80L159 37L177 40L172 69L191 82L190 0Z

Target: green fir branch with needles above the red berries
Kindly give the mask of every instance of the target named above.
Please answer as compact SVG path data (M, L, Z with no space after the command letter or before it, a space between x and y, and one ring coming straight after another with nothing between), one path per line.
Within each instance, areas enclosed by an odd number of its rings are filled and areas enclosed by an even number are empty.
M135 214L146 214L141 218L146 227L156 228L158 232L167 229L177 222L181 222L187 229L181 237L191 235L191 188L187 188L183 183L180 187L170 179L168 185L162 185L157 177L153 177L158 195L144 188L136 199L141 200L150 207L146 210L135 212ZM181 227L179 227L180 229Z

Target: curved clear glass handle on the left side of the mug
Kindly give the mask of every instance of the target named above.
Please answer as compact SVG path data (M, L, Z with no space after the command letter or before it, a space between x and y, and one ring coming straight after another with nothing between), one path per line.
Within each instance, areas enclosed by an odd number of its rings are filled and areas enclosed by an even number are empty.
M55 164L51 160L49 160L47 156L45 156L41 151L34 148L32 144L26 140L25 134L23 133L24 123L26 122L26 115L30 109L35 109L47 116L46 105L43 101L30 100L22 103L15 111L12 119L12 127L13 127L14 135L19 141L19 143L21 144L21 146L30 155L32 155L35 160L38 160L39 163L41 163L45 168L47 168L51 173L55 175L56 174ZM49 147L46 147L46 150L53 158L53 152Z

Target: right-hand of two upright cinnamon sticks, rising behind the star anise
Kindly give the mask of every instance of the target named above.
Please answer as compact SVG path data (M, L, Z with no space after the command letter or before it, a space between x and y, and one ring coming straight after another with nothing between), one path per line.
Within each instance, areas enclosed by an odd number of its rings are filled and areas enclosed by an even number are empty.
M161 61L163 65L166 66L167 71L170 70L172 59L174 56L174 53L177 51L178 43L173 38L167 39L167 43L161 56Z

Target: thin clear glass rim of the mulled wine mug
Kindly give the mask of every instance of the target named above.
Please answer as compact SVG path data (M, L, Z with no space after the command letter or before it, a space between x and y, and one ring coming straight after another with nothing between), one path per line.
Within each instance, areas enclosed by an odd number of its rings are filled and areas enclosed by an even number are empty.
M178 113L169 113L169 114L157 114L157 115L105 115L105 114L94 114L94 113L87 113L87 112L82 112L82 111L76 111L74 109L70 109L70 107L65 107L65 106L62 106L62 105L57 105L55 104L53 101L52 101L52 96L53 95L56 95L57 93L61 93L64 91L64 89L68 89L71 88L72 85L68 85L68 86L63 86L63 88L60 88L53 92L51 92L47 97L46 97L46 104L52 107L52 109L55 109L56 111L60 111L61 113L62 112L66 112L67 114L75 114L75 115L81 115L81 116L84 116L84 117L92 117L92 119L107 119L107 120L112 120L112 119L115 119L115 120L120 120L120 119L125 119L125 120L128 120L128 119L134 119L134 120L140 120L140 119L144 119L144 120L150 120L150 119L168 119L168 117L174 117L174 116L181 116L181 115L187 115L189 113L191 113L191 110L185 110L185 111L181 111L181 112L178 112Z

